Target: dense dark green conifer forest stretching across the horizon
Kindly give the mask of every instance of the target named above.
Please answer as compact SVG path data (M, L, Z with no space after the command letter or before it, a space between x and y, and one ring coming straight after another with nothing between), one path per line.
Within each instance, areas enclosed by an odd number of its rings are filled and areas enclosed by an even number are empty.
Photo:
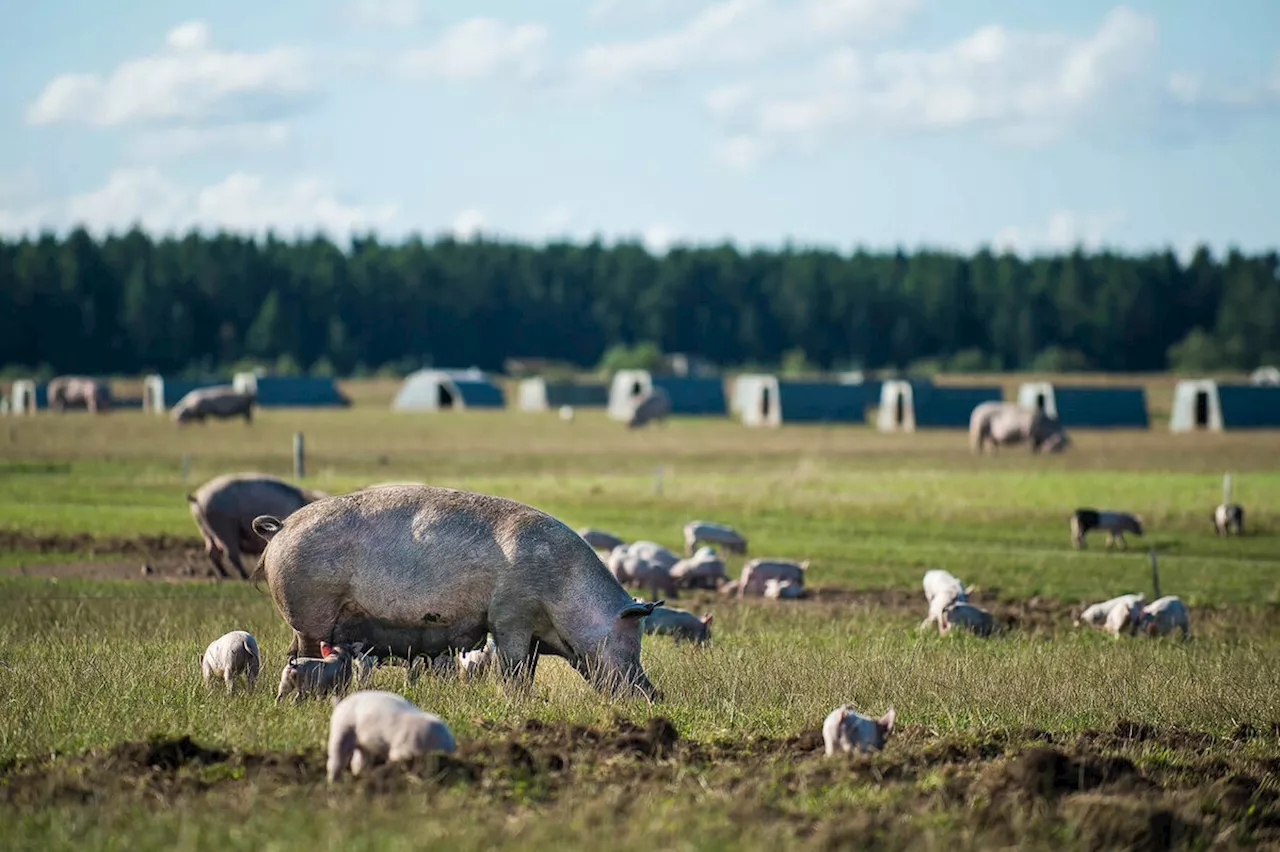
M238 235L0 241L5 372L360 375L644 352L788 370L1251 368L1277 257L855 252Z

